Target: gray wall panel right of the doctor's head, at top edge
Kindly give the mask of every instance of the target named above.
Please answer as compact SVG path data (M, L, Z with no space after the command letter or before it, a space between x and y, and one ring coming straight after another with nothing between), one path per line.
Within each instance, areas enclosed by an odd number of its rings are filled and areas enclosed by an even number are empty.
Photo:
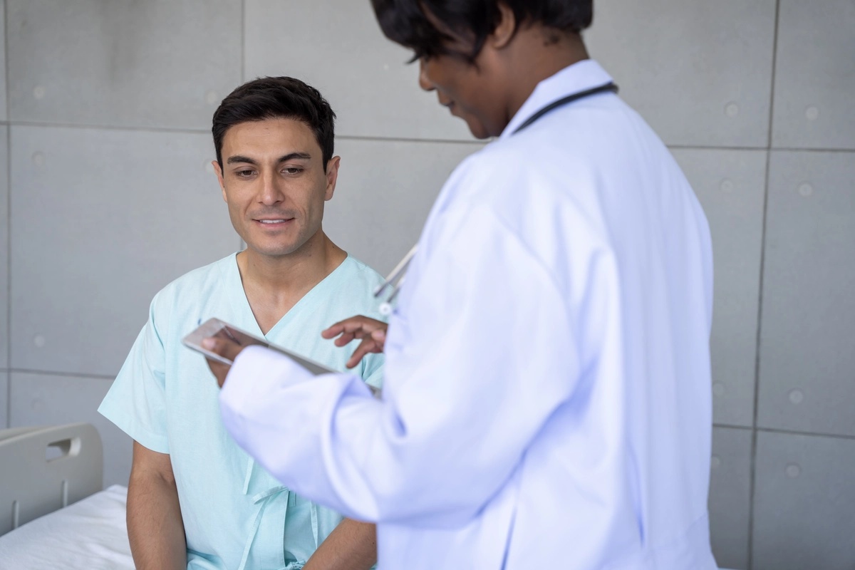
M594 7L591 54L666 144L767 145L775 0Z

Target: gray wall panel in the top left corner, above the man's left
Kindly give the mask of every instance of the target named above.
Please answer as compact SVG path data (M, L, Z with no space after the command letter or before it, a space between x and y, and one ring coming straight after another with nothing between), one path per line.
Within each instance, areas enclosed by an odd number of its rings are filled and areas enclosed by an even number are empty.
M7 7L13 121L204 129L240 80L240 0Z

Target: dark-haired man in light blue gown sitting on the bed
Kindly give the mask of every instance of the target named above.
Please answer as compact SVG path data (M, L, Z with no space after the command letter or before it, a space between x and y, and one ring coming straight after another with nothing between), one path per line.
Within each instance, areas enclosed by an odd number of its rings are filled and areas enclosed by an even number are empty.
M99 409L134 439L127 526L140 570L365 569L376 560L373 525L339 524L339 514L283 487L239 449L204 358L181 344L219 317L345 369L346 355L319 332L354 311L376 314L381 279L321 227L339 172L334 118L318 91L286 77L242 85L215 112L213 165L246 249L156 295ZM363 361L360 381L379 385L381 364Z

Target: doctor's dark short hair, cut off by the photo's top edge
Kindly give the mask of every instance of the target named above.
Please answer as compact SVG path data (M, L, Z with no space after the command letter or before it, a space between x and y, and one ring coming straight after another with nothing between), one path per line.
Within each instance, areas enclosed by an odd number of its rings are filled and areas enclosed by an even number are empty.
M513 11L517 28L528 22L579 33L593 21L593 0L371 0L371 3L386 38L413 50L414 60L451 54L474 62L486 38L496 29L499 3ZM449 50L446 46L453 38L433 26L426 13L458 37L471 40L471 52Z

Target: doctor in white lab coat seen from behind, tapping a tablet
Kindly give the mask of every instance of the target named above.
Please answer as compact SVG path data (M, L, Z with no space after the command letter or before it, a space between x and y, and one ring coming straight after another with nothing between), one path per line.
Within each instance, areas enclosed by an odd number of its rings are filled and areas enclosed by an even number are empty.
M382 399L251 347L212 366L227 428L284 485L377 522L382 569L715 568L710 234L588 59L591 0L374 10L422 88L497 140L446 182L385 338L362 318L327 334L382 346Z

